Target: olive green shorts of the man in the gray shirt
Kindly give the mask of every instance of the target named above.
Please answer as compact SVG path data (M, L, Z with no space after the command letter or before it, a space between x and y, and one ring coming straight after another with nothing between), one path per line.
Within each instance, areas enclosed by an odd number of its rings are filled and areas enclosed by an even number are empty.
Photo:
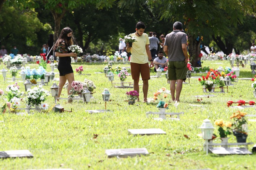
M168 62L169 80L186 80L186 74L187 65L185 61Z

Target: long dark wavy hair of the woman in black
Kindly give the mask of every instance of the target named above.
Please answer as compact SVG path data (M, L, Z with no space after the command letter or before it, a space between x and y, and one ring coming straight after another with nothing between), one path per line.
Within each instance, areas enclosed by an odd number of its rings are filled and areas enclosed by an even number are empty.
M72 32L72 36L70 40L67 40L68 33ZM74 42L74 37L73 37L73 31L69 28L63 28L60 32L59 38L57 39L55 45L54 45L54 51L57 49L57 47L62 43L62 41L65 41L68 46L71 46Z

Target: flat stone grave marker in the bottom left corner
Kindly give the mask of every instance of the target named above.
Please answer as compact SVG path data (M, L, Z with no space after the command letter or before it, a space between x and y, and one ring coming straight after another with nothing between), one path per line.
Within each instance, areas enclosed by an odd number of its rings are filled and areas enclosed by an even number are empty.
M17 158L17 157L28 157L32 158L33 155L29 150L12 150L0 152L0 158Z

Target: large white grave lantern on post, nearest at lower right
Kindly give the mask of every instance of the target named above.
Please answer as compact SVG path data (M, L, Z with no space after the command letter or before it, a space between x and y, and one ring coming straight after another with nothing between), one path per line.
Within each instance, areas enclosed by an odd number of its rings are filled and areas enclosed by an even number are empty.
M202 131L203 139L206 141L206 154L208 155L208 140L212 139L214 128L209 119L204 119L200 129Z

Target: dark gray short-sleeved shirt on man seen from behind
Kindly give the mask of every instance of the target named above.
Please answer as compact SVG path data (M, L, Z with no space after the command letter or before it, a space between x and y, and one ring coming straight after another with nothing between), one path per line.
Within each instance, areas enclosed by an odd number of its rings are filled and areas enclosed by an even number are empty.
M187 44L187 34L174 30L165 37L165 46L168 46L168 61L185 61L182 44Z

